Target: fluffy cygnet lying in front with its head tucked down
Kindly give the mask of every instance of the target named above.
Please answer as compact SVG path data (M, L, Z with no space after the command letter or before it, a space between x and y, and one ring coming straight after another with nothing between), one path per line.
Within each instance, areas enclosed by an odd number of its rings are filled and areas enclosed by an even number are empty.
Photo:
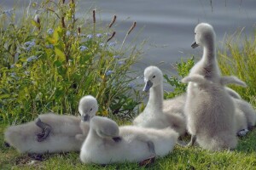
M166 156L176 144L177 136L169 127L118 127L107 117L95 116L90 121L90 132L81 147L80 160L83 163L110 164Z

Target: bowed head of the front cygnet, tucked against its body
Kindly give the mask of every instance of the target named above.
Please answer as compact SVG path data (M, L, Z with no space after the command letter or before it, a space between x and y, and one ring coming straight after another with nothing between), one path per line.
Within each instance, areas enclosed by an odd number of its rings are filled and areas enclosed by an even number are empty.
M119 137L119 126L113 120L103 117L94 116L90 120L90 128L94 129L97 135L101 138Z

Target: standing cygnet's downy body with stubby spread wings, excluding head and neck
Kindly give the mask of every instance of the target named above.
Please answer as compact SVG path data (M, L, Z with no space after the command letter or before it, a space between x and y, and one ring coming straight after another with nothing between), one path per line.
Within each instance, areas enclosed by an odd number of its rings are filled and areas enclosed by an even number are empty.
M234 149L237 144L235 105L224 84L246 84L236 77L220 77L219 82L211 82L201 75L184 77L182 82L196 83L195 88L188 90L185 105L191 134L189 145L196 140L207 150Z

